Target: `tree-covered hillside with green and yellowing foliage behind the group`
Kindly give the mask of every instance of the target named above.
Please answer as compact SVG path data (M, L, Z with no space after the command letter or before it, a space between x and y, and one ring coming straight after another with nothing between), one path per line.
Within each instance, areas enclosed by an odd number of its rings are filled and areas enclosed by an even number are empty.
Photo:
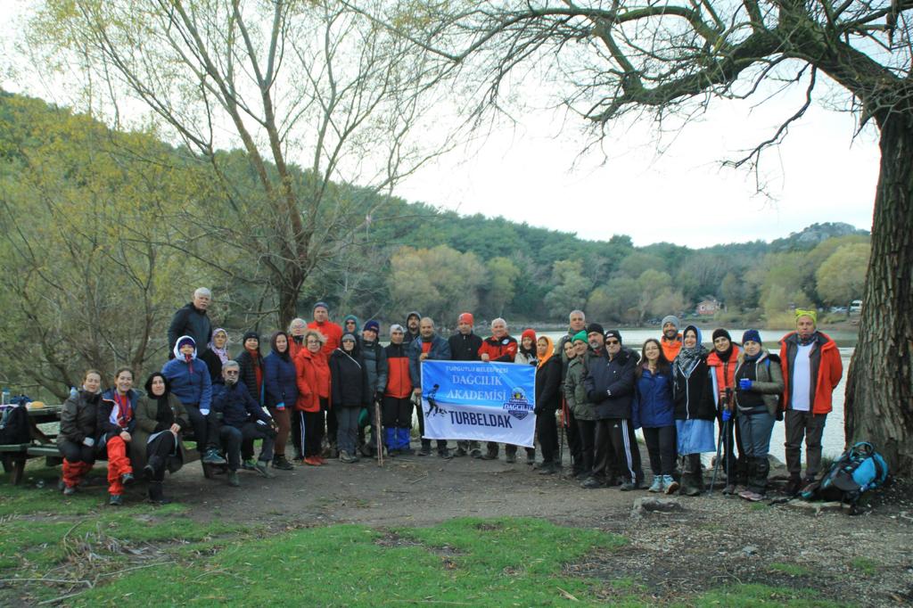
M245 188L255 180L245 153L220 155L219 170L236 172L232 192L211 163L153 130L110 131L0 95L0 380L63 390L86 366L157 364L173 310L199 285L213 288L219 325L278 325L274 246L289 225ZM845 306L865 278L868 236L848 225L771 244L635 247L624 235L585 241L291 171L324 196L315 234L328 246L315 249L300 292L305 316L323 299L336 316L385 321L407 309L519 322L583 308L637 324L709 298L721 314L775 323L792 306Z

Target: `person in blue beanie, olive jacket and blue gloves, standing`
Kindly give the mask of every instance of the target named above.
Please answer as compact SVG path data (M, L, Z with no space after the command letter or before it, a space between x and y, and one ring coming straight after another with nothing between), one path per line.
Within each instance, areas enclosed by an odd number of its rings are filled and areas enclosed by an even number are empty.
M758 501L767 493L767 476L771 470L767 453L771 447L773 424L782 420L780 396L783 393L780 357L762 348L758 330L742 334L735 382L735 415L745 447L748 477L748 487L739 496Z

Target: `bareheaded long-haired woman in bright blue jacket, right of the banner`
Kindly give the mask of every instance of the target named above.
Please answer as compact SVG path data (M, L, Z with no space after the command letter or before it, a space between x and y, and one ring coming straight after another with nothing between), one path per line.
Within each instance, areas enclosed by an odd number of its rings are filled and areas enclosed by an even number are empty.
M650 492L672 494L678 482L676 470L676 420L672 401L672 366L666 360L659 341L650 338L641 350L644 359L637 366L634 405L635 428L643 428L646 449L650 454L653 484Z

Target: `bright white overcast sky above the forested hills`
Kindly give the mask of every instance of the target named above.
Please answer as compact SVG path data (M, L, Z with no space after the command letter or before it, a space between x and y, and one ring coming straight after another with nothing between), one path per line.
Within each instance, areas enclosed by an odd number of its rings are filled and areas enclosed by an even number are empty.
M0 0L0 9L18 16L29 4ZM7 31L0 37L0 63L14 63L12 36ZM46 83L42 89L38 74L26 80L10 74L0 73L5 89L65 102L58 99L62 91L48 90ZM827 92L822 86L818 91ZM581 157L584 138L578 119L545 111L518 113L522 122L446 154L394 194L586 239L629 235L636 246L769 241L816 222L870 229L876 135L870 128L854 139L855 121L849 114L813 106L794 123L785 142L763 157L766 195L757 194L754 173L720 166L771 137L802 105L803 94L803 89L793 89L757 106L716 101L698 121L666 133L660 140L662 154L656 152L656 125L648 120L618 125L601 151Z

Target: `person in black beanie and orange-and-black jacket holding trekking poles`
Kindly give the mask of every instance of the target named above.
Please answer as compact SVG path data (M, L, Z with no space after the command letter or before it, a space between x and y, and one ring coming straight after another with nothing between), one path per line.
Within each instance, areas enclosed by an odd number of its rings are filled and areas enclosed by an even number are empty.
M710 383L713 385L713 395L717 400L717 424L719 437L723 442L723 470L726 472L726 487L723 494L736 494L737 488L741 492L747 483L747 470L745 464L745 448L742 447L741 432L735 422L735 406L733 402L735 391L736 362L739 360L741 349L732 343L729 331L713 330L713 351L707 356L707 365L710 368ZM733 446L733 439L735 446ZM738 449L739 457L736 457Z

